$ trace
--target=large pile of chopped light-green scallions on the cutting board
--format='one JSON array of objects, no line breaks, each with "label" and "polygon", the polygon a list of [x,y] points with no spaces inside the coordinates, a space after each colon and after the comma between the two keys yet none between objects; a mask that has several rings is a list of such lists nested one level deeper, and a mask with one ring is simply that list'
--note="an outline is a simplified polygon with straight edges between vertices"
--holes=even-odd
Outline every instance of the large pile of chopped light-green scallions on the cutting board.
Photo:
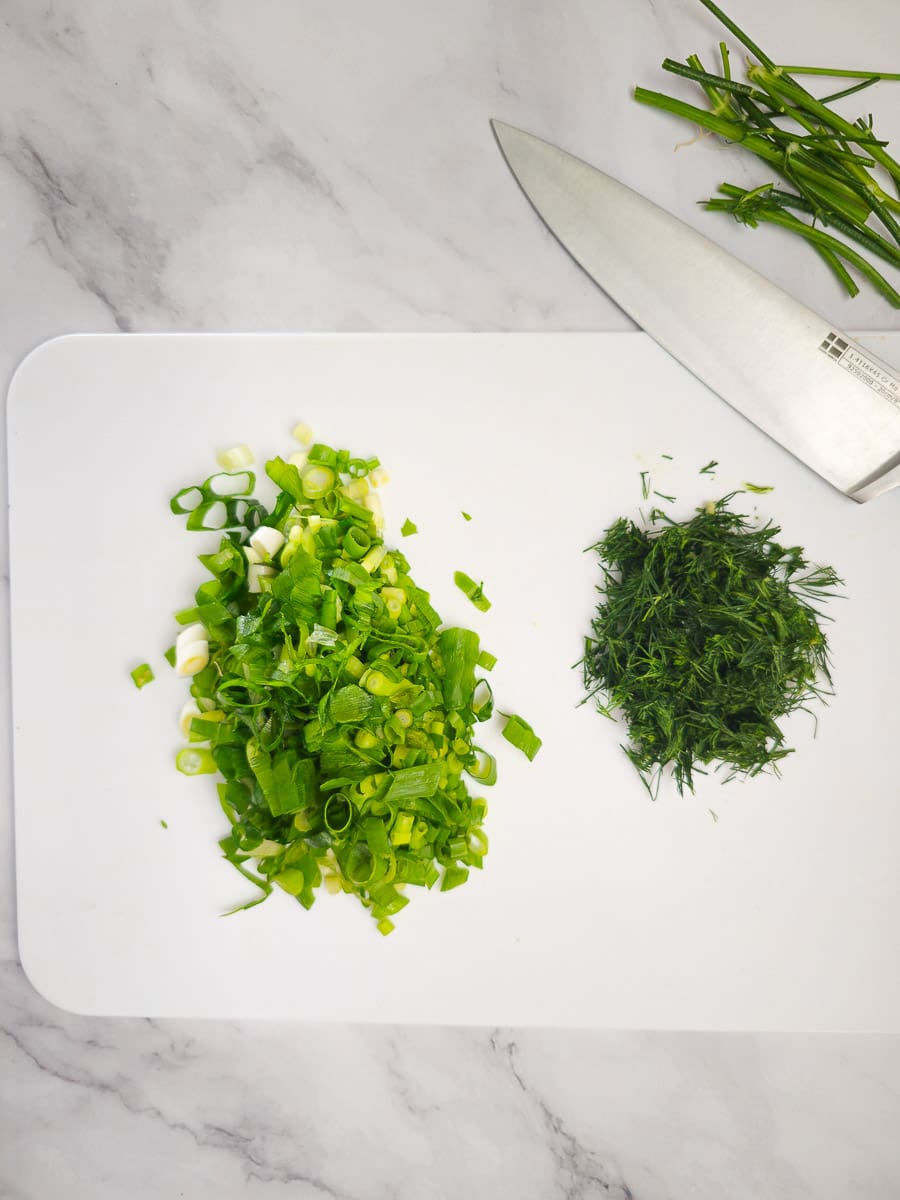
[{"label": "large pile of chopped light-green scallions on the cutting board", "polygon": [[[312,440],[305,425],[295,434]],[[469,781],[497,778],[476,732],[493,713],[476,670],[496,659],[442,624],[385,545],[377,458],[323,444],[274,458],[270,509],[238,449],[220,461],[239,469],[170,502],[188,529],[222,533],[199,556],[210,578],[176,614],[170,660],[191,679],[176,766],[220,776],[222,853],[260,893],[239,908],[274,887],[308,908],[324,884],[389,934],[408,886],[456,888],[487,853],[487,804]],[[506,736],[534,757],[534,734]]]}]

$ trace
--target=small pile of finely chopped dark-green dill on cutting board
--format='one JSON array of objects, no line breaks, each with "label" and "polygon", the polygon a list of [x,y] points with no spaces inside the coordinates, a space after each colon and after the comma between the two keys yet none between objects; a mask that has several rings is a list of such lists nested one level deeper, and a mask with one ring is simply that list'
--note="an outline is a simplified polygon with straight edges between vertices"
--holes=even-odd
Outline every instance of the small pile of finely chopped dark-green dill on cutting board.
[{"label": "small pile of finely chopped dark-green dill on cutting board", "polygon": [[830,695],[828,643],[816,607],[841,583],[800,547],[754,528],[732,493],[650,528],[620,517],[590,547],[604,572],[586,640],[588,700],[628,727],[625,754],[655,797],[671,768],[679,792],[715,764],[727,779],[778,763],[779,720]]}]

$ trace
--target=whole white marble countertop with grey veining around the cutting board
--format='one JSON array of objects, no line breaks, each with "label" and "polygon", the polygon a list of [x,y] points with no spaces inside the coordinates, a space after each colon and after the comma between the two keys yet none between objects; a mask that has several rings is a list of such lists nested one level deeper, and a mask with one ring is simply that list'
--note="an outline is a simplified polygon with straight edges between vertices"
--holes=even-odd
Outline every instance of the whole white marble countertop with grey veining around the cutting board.
[{"label": "whole white marble countertop with grey veining around the cutting board", "polygon": [[[900,42],[894,0],[728,7],[788,61],[889,70]],[[803,247],[695,208],[764,179],[708,140],[673,154],[689,131],[629,86],[680,90],[659,60],[712,59],[718,36],[694,0],[2,0],[0,378],[71,330],[628,328],[538,227],[490,115],[602,162],[839,325],[898,328]],[[874,107],[900,139],[900,91]],[[6,763],[8,707],[4,679]],[[896,1039],[62,1014],[17,965],[0,778],[10,1200],[900,1195]]]}]

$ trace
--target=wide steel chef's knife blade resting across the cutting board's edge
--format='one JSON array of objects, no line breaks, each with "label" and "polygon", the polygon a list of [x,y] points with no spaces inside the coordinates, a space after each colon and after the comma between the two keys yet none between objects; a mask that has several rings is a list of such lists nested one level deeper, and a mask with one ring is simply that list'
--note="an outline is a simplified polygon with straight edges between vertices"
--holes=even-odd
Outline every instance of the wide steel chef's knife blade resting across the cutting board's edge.
[{"label": "wide steel chef's knife blade resting across the cutting board's edge", "polygon": [[900,373],[643,196],[491,124],[538,216],[660,346],[846,496],[900,485]]}]

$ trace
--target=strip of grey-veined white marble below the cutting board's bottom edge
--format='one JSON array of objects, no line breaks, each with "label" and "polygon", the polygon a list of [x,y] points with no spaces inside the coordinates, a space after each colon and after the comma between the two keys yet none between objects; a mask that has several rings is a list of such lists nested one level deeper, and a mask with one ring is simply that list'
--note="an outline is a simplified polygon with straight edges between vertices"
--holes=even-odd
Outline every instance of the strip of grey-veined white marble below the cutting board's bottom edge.
[{"label": "strip of grey-veined white marble below the cutting board's bottom edge", "polygon": [[89,1020],[0,983],[11,1198],[896,1194],[878,1039]]}]

